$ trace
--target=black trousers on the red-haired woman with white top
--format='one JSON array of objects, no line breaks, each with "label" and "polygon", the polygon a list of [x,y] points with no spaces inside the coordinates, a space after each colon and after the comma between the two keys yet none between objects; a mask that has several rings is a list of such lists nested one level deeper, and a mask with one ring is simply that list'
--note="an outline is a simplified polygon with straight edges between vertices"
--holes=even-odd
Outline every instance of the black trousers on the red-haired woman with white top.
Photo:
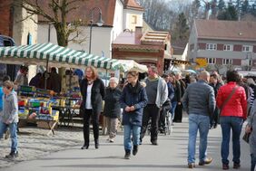
[{"label": "black trousers on the red-haired woman with white top", "polygon": [[94,141],[99,140],[99,118],[100,114],[94,113],[93,109],[84,110],[84,145],[88,146],[90,142],[90,118],[93,120]]}]

